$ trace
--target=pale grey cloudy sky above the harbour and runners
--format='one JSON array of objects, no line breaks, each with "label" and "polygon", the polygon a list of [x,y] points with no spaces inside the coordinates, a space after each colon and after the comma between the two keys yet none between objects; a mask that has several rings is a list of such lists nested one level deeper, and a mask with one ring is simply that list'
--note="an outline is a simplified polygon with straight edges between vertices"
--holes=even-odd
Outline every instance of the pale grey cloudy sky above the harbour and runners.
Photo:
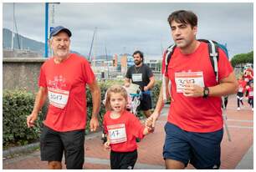
[{"label": "pale grey cloudy sky above the harbour and runners", "polygon": [[[197,38],[227,43],[231,57],[253,50],[253,3],[59,3],[49,5],[49,25],[73,33],[71,48],[89,54],[133,53],[160,58],[173,43],[167,23],[170,13],[192,10],[198,17]],[[44,3],[15,3],[18,33],[44,42]],[[52,24],[54,23],[54,24]],[[13,29],[13,3],[3,3],[3,28]]]}]

